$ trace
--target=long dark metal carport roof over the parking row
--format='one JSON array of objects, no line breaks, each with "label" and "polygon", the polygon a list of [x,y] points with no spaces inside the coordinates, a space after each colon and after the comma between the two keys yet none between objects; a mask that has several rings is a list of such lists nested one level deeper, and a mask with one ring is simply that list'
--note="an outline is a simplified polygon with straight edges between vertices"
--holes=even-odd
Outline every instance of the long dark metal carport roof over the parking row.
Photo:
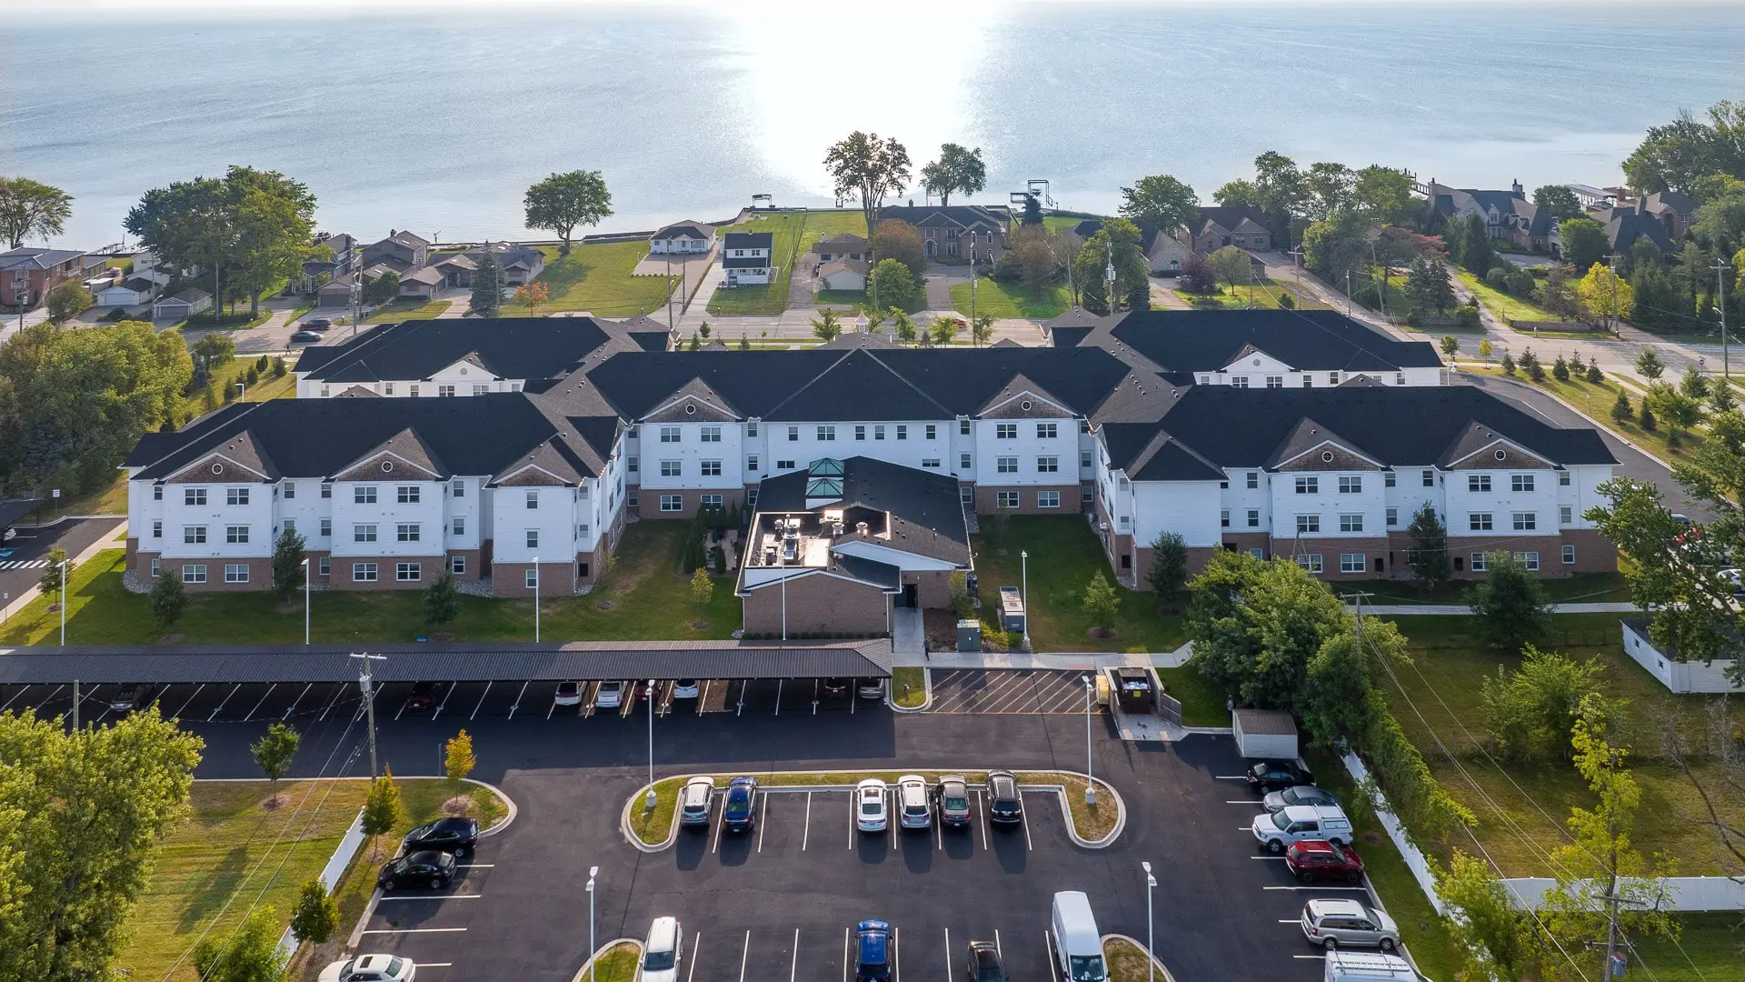
[{"label": "long dark metal carport roof over the parking row", "polygon": [[377,681],[611,678],[888,678],[888,640],[571,641],[550,645],[133,645],[0,650],[0,683],[352,681],[352,652]]}]

